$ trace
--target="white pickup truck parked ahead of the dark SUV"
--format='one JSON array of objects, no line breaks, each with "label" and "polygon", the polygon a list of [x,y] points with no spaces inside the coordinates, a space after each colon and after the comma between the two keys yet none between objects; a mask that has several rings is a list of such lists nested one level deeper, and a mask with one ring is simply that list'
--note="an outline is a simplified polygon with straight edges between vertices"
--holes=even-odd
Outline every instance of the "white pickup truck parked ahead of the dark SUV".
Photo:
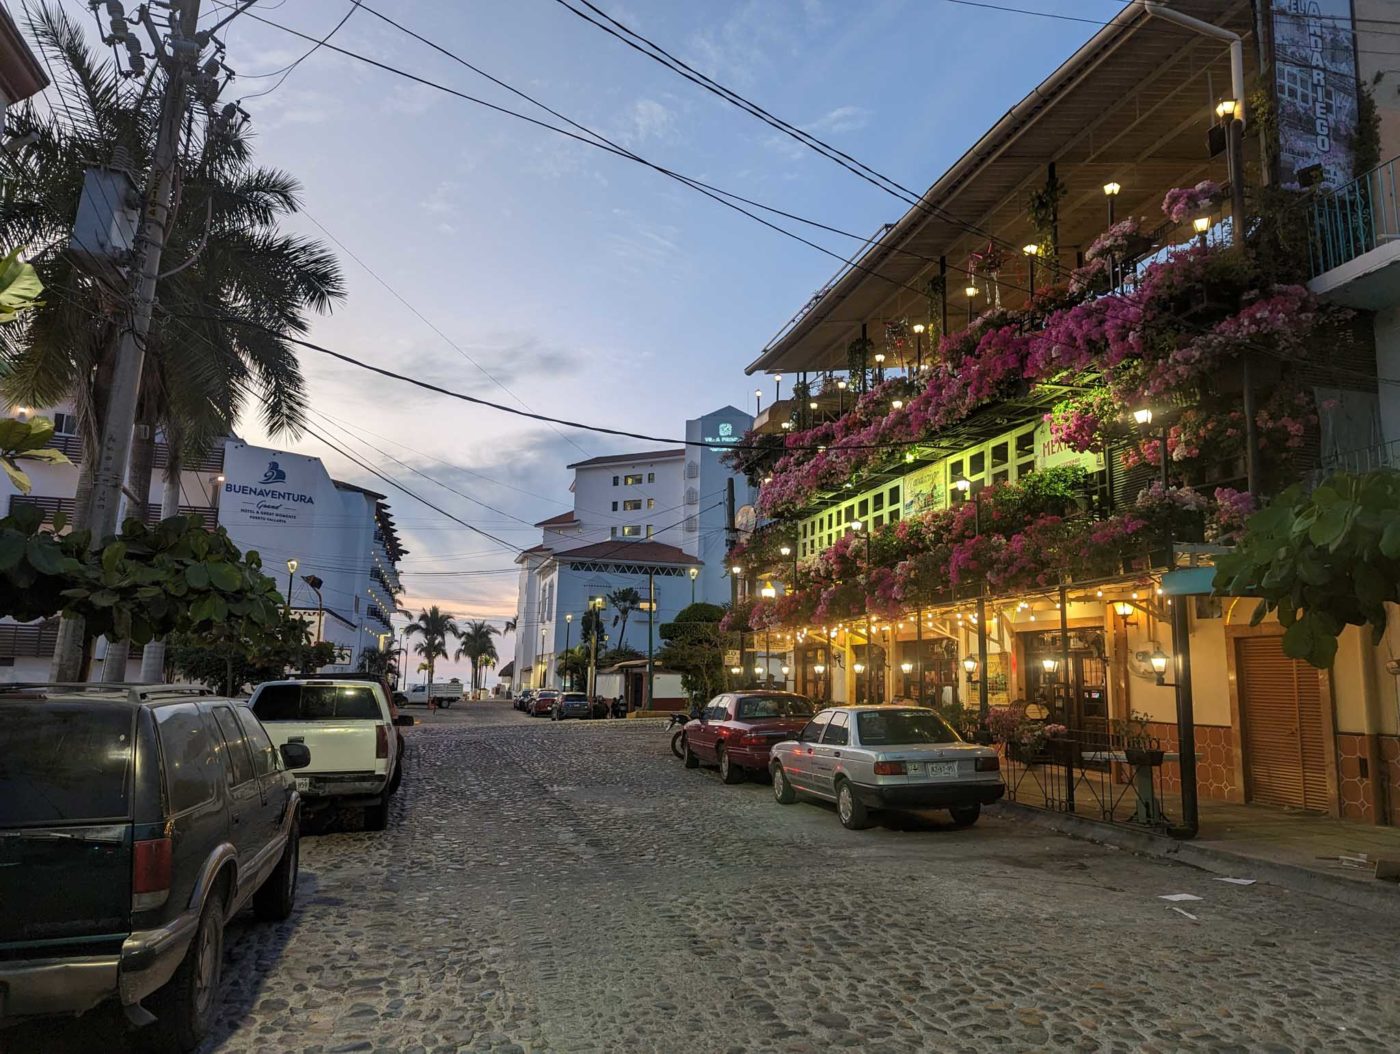
[{"label": "white pickup truck parked ahead of the dark SUV", "polygon": [[302,808],[360,806],[367,830],[389,823],[389,796],[403,778],[403,739],[384,686],[374,680],[267,680],[248,700],[276,746],[302,743],[312,763],[297,771]]}]

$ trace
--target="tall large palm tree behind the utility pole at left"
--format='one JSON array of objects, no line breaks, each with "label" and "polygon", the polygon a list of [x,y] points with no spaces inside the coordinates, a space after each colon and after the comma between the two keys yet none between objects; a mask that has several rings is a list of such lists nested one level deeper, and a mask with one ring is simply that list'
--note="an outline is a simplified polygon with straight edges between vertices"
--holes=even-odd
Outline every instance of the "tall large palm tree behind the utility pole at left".
[{"label": "tall large palm tree behind the utility pole at left", "polygon": [[[48,295],[25,325],[0,335],[0,393],[38,406],[73,400],[85,448],[73,517],[81,526],[126,298],[113,286],[123,279],[84,270],[66,249],[87,168],[147,171],[162,92],[125,80],[57,4],[41,3],[29,29],[59,76],[49,105],[7,113],[11,132],[28,143],[0,151],[0,242],[28,248]],[[144,428],[132,452],[139,505],[148,504],[157,428],[169,448],[167,473],[178,480],[179,463],[231,433],[249,403],[273,434],[300,427],[305,384],[284,336],[305,332],[308,309],[329,311],[344,295],[325,248],[277,230],[279,217],[298,207],[297,181],[255,167],[246,133],[216,126],[199,104],[188,105],[160,309],[144,343],[137,410]],[[78,676],[83,640],[74,620],[64,621],[55,673],[67,680]]]}]

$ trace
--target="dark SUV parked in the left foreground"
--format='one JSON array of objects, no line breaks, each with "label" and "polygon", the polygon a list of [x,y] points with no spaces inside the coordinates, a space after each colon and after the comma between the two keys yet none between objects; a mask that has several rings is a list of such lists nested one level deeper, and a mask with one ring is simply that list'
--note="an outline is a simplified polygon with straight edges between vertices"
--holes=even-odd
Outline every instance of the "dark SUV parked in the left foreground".
[{"label": "dark SUV parked in the left foreground", "polygon": [[291,914],[311,752],[204,689],[55,684],[0,690],[0,1019],[115,998],[195,1050],[224,922]]}]

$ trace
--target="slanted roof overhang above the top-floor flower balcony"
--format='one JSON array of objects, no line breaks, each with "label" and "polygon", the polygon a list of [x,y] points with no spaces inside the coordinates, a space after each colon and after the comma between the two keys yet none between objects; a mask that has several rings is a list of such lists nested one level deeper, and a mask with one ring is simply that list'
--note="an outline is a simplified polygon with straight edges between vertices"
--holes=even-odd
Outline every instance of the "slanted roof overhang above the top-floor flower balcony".
[{"label": "slanted roof overhang above the top-floor flower balcony", "polygon": [[[1177,0],[1172,8],[1246,41],[1254,35],[1250,0]],[[1254,49],[1245,53],[1253,66]],[[983,134],[920,204],[855,258],[857,266],[833,277],[745,372],[844,370],[862,323],[927,312],[921,290],[941,258],[949,265],[949,301],[965,309],[959,269],[993,237],[1009,245],[1026,239],[1026,199],[1051,162],[1068,188],[1060,204],[1061,263],[1072,266],[1074,252],[1103,231],[1107,182],[1123,188],[1119,217],[1152,223],[1165,190],[1224,176],[1224,157],[1210,157],[1207,134],[1210,94],[1228,94],[1229,85],[1224,42],[1128,4]],[[1022,270],[1012,281],[1025,286],[1026,279]]]}]

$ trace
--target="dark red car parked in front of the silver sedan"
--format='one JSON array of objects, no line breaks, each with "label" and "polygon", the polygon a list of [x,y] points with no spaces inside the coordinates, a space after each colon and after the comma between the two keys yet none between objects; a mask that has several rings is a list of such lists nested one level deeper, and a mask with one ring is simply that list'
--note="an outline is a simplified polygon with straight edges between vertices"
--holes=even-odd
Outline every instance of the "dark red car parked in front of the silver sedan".
[{"label": "dark red car parked in front of the silver sedan", "polygon": [[766,773],[773,745],[801,732],[815,712],[816,704],[794,691],[753,689],[715,696],[700,719],[686,725],[686,768],[717,764],[727,784]]}]

